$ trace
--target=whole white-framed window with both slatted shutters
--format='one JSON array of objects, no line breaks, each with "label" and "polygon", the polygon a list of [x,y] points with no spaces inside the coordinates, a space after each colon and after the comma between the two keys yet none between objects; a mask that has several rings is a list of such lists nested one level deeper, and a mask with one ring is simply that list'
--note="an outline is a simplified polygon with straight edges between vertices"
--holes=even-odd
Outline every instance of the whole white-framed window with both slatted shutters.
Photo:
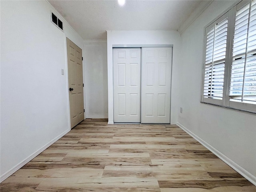
[{"label": "whole white-framed window with both slatted shutters", "polygon": [[256,112],[256,0],[208,25],[204,51],[201,102]]}]

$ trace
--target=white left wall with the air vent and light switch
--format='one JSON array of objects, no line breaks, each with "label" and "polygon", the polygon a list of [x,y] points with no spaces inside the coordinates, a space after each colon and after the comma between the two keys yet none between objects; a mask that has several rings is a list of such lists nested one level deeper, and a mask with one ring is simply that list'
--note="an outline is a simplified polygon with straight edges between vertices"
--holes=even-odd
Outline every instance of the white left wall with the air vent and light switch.
[{"label": "white left wall with the air vent and light switch", "polygon": [[0,3],[2,181],[70,130],[66,36],[83,42],[46,1]]}]

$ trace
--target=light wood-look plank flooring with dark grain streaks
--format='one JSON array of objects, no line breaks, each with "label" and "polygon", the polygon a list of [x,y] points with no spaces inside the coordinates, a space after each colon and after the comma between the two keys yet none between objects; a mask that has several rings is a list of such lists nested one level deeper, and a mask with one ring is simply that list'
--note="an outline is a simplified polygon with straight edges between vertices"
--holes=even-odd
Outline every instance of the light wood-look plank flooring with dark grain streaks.
[{"label": "light wood-look plank flooring with dark grain streaks", "polygon": [[256,192],[256,186],[178,126],[86,119],[0,191]]}]

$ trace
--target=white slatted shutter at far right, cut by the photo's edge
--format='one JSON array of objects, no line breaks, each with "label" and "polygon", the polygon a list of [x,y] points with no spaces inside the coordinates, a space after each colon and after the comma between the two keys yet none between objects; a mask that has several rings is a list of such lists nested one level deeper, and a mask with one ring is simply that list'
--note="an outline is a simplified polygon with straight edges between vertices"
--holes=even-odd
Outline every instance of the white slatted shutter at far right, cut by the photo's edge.
[{"label": "white slatted shutter at far right, cut by the photo's edge", "polygon": [[256,101],[256,1],[236,11],[230,100]]}]

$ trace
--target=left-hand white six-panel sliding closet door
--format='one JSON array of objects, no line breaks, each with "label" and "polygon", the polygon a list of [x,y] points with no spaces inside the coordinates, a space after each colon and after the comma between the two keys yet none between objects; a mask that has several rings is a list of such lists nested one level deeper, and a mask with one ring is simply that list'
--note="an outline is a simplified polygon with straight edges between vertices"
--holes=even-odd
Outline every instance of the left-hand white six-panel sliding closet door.
[{"label": "left-hand white six-panel sliding closet door", "polygon": [[140,122],[141,48],[113,48],[114,122]]}]

